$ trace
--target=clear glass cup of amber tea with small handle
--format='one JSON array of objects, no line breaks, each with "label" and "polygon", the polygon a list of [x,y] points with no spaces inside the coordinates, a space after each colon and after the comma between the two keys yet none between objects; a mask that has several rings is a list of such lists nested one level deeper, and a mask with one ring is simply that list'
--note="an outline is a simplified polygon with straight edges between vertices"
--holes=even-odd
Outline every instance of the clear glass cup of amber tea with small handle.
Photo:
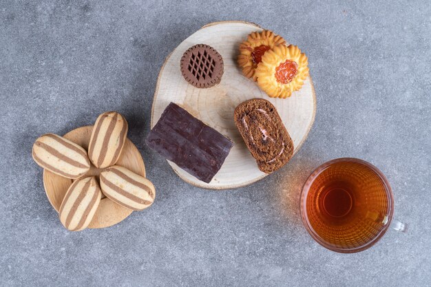
[{"label": "clear glass cup of amber tea with small handle", "polygon": [[364,251],[391,226],[394,198],[388,180],[372,164],[338,158],[317,167],[302,188],[301,215],[308,233],[319,244],[340,253]]}]

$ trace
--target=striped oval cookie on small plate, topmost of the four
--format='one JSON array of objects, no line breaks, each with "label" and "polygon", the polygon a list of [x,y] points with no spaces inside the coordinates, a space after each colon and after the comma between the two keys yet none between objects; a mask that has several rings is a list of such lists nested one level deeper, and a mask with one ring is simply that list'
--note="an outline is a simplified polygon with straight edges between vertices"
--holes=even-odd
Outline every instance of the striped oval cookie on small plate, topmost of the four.
[{"label": "striped oval cookie on small plate, topmost of the four", "polygon": [[98,116],[88,145],[88,156],[99,169],[115,164],[123,151],[127,121],[116,111]]}]

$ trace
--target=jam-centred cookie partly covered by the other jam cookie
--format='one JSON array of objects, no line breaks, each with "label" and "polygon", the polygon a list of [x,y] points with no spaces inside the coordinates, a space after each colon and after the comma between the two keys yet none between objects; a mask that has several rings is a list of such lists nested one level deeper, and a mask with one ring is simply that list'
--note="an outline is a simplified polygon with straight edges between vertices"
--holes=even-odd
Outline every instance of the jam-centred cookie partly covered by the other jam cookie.
[{"label": "jam-centred cookie partly covered by the other jam cookie", "polygon": [[249,34],[246,41],[241,43],[238,56],[238,65],[242,68],[242,74],[256,81],[255,70],[262,62],[262,56],[278,45],[286,45],[286,41],[272,31],[263,30]]}]

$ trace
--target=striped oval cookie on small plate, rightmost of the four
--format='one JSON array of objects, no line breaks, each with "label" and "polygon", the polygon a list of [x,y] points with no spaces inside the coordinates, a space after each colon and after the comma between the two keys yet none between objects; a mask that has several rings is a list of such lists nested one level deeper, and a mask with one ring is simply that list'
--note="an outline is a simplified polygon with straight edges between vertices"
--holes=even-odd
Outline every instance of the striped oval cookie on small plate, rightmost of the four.
[{"label": "striped oval cookie on small plate, rightmost of the four", "polygon": [[125,167],[114,165],[101,172],[101,189],[114,202],[140,211],[154,202],[154,185]]}]

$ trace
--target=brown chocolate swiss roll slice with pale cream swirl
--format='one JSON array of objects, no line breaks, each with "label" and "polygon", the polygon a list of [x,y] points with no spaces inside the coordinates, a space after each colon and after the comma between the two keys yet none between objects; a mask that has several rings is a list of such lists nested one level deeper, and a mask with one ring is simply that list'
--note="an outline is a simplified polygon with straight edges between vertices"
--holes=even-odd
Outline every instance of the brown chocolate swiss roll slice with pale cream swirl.
[{"label": "brown chocolate swiss roll slice with pale cream swirl", "polygon": [[271,173],[291,159],[293,141],[277,110],[268,100],[246,100],[236,107],[234,118],[261,171]]}]

